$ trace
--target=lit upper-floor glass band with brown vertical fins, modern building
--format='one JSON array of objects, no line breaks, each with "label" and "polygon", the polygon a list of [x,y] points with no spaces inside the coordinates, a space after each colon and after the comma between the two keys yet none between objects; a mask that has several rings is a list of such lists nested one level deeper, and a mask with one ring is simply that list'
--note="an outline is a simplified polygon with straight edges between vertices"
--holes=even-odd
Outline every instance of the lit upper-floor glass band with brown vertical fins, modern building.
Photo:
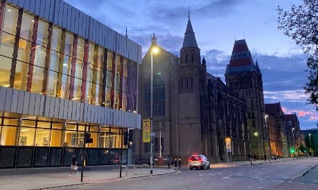
[{"label": "lit upper-floor glass band with brown vertical fins, modern building", "polygon": [[136,111],[136,63],[10,5],[3,11],[0,86]]}]

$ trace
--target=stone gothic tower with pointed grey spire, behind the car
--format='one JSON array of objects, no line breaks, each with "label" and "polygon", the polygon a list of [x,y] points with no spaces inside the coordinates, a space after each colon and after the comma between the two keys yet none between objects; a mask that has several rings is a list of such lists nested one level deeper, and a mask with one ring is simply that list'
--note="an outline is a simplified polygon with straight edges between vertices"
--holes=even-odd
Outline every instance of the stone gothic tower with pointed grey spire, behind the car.
[{"label": "stone gothic tower with pointed grey spire, behind the car", "polygon": [[[209,155],[209,128],[207,111],[202,105],[206,101],[206,66],[201,63],[200,48],[197,46],[190,15],[180,50],[177,65],[177,108],[175,109],[175,153]],[[200,103],[199,103],[200,102]],[[173,150],[174,152],[174,150]]]}]

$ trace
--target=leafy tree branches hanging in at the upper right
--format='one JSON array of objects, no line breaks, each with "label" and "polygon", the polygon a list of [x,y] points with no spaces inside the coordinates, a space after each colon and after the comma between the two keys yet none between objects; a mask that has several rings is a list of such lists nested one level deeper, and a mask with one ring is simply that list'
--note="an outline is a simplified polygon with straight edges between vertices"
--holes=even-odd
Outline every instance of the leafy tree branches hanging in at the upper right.
[{"label": "leafy tree branches hanging in at the upper right", "polygon": [[279,30],[308,55],[308,82],[303,88],[307,102],[315,105],[318,111],[318,0],[303,0],[303,5],[293,5],[289,11],[279,6],[277,11]]}]

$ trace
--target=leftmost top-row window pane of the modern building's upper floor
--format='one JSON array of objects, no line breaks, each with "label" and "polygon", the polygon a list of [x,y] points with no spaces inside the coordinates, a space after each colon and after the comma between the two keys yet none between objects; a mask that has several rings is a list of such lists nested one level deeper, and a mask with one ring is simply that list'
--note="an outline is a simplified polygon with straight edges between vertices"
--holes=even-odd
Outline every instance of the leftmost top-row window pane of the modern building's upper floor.
[{"label": "leftmost top-row window pane of the modern building's upper floor", "polygon": [[17,30],[18,10],[12,6],[6,5],[6,14],[4,16],[3,31],[15,35]]}]

